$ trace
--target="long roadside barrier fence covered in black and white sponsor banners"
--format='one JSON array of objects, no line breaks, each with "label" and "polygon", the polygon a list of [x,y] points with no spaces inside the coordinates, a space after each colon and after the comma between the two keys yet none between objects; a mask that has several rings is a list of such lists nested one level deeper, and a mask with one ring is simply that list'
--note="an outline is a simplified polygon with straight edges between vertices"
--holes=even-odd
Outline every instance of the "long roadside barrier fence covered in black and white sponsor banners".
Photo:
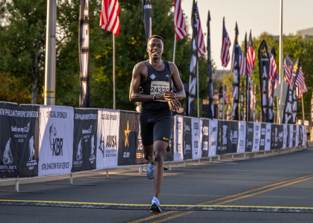
[{"label": "long roadside barrier fence covered in black and white sponsor banners", "polygon": [[[0,178],[147,163],[139,113],[0,103]],[[165,161],[306,145],[305,126],[173,116]]]}]

